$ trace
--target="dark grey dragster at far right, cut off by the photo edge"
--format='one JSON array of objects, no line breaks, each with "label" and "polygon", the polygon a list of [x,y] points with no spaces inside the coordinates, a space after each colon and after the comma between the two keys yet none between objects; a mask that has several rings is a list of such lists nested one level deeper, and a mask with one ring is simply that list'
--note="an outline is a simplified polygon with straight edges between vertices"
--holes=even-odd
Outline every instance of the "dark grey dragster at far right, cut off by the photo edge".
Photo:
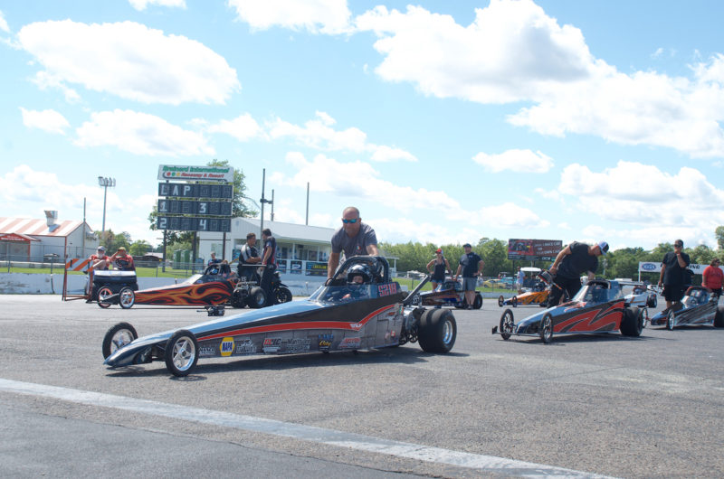
[{"label": "dark grey dragster at far right, cut off by the photo edge", "polygon": [[719,306],[719,296],[711,294],[702,286],[691,286],[681,298],[681,303],[664,309],[651,318],[653,326],[666,326],[672,330],[677,326],[712,325],[724,328],[724,306]]}]

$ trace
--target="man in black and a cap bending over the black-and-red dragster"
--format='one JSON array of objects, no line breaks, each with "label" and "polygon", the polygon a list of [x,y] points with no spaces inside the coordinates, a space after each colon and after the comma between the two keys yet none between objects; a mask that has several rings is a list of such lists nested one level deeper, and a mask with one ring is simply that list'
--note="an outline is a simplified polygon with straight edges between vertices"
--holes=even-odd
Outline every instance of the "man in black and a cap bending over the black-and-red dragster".
[{"label": "man in black and a cap bending over the black-and-red dragster", "polygon": [[588,279],[595,279],[595,270],[598,269],[598,257],[608,252],[608,243],[600,241],[593,246],[573,241],[558,253],[551,275],[555,275],[553,285],[550,287],[548,306],[560,303],[563,293],[568,297],[576,296],[581,288],[581,275],[588,273]]}]

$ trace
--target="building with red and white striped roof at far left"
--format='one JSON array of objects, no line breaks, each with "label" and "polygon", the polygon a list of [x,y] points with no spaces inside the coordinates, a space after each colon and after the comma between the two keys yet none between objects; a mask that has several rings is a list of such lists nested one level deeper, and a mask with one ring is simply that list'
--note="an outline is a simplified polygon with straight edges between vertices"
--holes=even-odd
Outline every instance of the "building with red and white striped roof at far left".
[{"label": "building with red and white striped roof at far left", "polygon": [[[54,213],[54,211],[49,211]],[[0,217],[0,258],[11,261],[43,261],[46,255],[88,258],[99,239],[85,221]],[[47,259],[47,258],[46,258]]]}]

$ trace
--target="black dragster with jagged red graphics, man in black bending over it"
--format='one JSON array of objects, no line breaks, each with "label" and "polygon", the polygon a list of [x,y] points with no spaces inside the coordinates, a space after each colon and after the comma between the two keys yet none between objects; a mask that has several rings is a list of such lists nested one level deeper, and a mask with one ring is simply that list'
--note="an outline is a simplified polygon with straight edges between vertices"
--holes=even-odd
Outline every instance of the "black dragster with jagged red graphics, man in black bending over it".
[{"label": "black dragster with jagged red graphics, man in black bending over it", "polygon": [[618,282],[593,279],[571,301],[549,307],[518,324],[513,311],[506,309],[492,333],[504,340],[512,334],[539,336],[543,343],[550,343],[553,334],[564,333],[621,331],[625,336],[640,336],[644,322],[643,311],[626,304]]}]

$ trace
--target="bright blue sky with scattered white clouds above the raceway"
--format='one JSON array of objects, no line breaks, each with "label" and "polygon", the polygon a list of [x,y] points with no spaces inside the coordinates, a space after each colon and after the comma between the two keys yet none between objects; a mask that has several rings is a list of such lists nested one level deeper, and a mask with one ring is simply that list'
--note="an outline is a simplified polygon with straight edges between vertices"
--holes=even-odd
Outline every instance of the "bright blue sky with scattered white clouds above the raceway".
[{"label": "bright blue sky with scattered white clouds above the raceway", "polygon": [[0,0],[0,215],[85,197],[100,230],[111,176],[107,225],[156,244],[158,164],[218,158],[382,241],[715,247],[722,5]]}]

